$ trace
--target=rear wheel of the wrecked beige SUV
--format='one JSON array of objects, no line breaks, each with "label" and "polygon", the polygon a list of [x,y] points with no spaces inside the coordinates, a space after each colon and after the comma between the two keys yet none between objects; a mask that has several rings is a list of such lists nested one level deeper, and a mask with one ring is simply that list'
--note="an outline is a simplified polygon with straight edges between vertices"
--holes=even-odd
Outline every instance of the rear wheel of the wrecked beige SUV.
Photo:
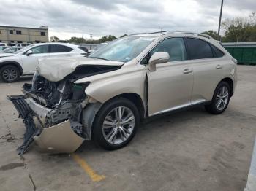
[{"label": "rear wheel of the wrecked beige SUV", "polygon": [[227,109],[230,102],[230,85],[227,82],[219,82],[217,85],[211,104],[206,105],[206,111],[211,114],[222,114]]}]

